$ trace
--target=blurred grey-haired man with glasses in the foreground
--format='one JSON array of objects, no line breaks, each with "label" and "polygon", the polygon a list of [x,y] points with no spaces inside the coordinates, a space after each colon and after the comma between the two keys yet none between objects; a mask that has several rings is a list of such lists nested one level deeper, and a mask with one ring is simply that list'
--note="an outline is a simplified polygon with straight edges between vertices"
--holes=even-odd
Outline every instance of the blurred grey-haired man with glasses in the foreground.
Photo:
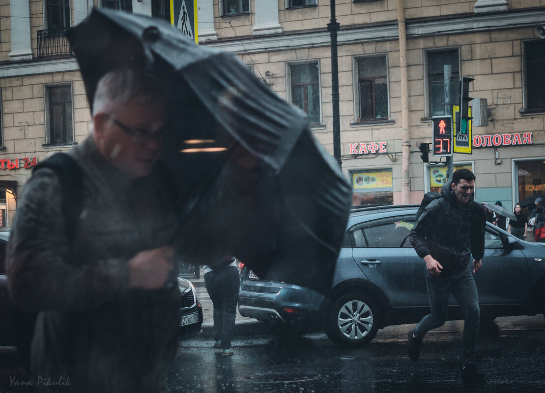
[{"label": "blurred grey-haired man with glasses in the foreground", "polygon": [[68,153],[83,174],[75,234],[54,170],[35,170],[25,187],[7,272],[14,304],[38,312],[38,391],[167,390],[180,307],[174,199],[153,169],[166,126],[162,85],[127,69],[100,79],[93,132]]}]

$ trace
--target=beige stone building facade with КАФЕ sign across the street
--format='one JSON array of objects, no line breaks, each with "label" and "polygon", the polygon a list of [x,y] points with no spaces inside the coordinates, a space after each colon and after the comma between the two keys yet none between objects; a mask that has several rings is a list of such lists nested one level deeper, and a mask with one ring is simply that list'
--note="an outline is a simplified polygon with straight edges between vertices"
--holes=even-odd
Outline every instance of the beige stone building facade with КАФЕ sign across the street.
[{"label": "beige stone building facade with \u041a\u0410\u0424\u0415 sign across the street", "polygon": [[[54,30],[45,33],[51,40],[95,6],[130,5],[132,12],[168,19],[166,3],[0,0],[3,226],[33,163],[71,148],[91,130],[77,64],[69,50],[54,54],[62,42],[47,44],[43,31]],[[341,160],[353,205],[419,203],[446,181],[445,157],[431,152],[430,161],[440,163],[426,164],[419,150],[432,143],[432,116],[451,108],[445,108],[445,65],[452,97],[459,77],[474,79],[473,149],[455,152],[453,162],[477,175],[477,200],[512,208],[545,194],[545,2],[335,4]],[[197,1],[197,8],[199,44],[238,54],[263,83],[305,110],[314,136],[333,153],[330,0],[213,0]]]}]

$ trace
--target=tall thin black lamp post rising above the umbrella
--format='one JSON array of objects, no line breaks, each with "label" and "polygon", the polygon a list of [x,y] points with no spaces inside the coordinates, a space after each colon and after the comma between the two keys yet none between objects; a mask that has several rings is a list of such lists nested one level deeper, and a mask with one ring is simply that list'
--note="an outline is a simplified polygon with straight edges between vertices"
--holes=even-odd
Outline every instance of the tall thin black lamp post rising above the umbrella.
[{"label": "tall thin black lamp post rising above the umbrella", "polygon": [[333,105],[333,156],[342,167],[341,123],[339,119],[339,75],[337,63],[337,30],[341,26],[335,17],[335,0],[330,0],[331,20],[328,23],[331,36],[331,103]]}]

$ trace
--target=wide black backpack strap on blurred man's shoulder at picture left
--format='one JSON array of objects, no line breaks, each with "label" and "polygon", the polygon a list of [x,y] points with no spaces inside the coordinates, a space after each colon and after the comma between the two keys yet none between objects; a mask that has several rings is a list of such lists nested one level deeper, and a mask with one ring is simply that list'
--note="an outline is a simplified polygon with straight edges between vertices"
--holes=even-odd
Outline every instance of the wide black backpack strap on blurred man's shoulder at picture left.
[{"label": "wide black backpack strap on blurred man's shoulder at picture left", "polygon": [[76,160],[66,153],[55,153],[33,169],[49,168],[57,175],[62,194],[62,214],[69,248],[76,236],[77,222],[83,208],[83,171]]}]

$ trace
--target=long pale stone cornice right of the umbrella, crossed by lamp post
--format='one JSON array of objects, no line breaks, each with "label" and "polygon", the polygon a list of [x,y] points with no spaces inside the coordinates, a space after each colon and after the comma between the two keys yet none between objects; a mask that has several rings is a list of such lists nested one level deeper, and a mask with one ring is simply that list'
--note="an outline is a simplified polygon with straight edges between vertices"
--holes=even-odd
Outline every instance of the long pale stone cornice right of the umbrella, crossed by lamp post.
[{"label": "long pale stone cornice right of the umbrella, crossed by lamp post", "polygon": [[[463,17],[432,20],[419,19],[406,21],[407,38],[421,38],[447,34],[467,34],[535,27],[543,24],[545,9],[514,11],[497,14],[467,14]],[[359,44],[361,42],[389,41],[398,39],[397,22],[379,26],[338,30],[338,45]],[[224,52],[258,53],[293,50],[308,47],[329,46],[331,38],[326,31],[282,34],[270,37],[230,40],[228,42],[206,42],[204,45]]]}]

